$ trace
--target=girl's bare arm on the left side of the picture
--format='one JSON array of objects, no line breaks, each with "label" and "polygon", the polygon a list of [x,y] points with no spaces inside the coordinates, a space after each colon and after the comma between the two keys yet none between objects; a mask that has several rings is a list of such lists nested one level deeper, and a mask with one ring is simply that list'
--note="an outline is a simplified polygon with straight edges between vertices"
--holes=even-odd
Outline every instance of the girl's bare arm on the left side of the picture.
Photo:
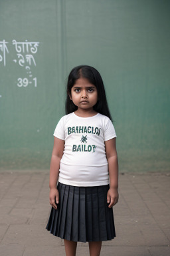
[{"label": "girl's bare arm on the left side of the picture", "polygon": [[62,139],[58,139],[54,137],[54,147],[52,150],[52,157],[50,161],[50,205],[57,208],[56,203],[59,202],[58,190],[56,189],[56,183],[58,181],[58,174],[60,169],[60,160],[64,151],[64,143],[65,141]]}]

